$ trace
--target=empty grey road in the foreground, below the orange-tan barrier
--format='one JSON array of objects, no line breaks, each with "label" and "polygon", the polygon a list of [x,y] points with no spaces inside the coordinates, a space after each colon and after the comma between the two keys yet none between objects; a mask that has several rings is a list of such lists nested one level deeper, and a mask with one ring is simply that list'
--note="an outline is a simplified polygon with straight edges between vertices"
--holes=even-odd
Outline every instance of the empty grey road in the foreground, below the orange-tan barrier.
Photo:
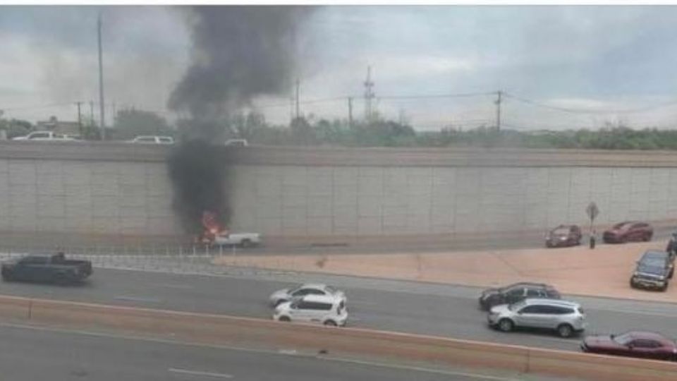
[{"label": "empty grey road in the foreground, below the orange-tan barrier", "polygon": [[316,357],[16,325],[0,325],[0,368],[8,381],[510,380],[468,370],[332,358],[331,353]]}]

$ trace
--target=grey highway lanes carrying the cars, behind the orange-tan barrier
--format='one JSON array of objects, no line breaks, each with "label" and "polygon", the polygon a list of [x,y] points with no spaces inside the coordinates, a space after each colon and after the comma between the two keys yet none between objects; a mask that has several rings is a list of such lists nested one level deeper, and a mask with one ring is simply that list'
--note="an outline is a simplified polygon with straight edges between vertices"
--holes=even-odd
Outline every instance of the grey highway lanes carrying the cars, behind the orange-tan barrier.
[{"label": "grey highway lanes carrying the cars, behind the orange-tan barrier", "polygon": [[[353,327],[578,350],[580,338],[560,339],[539,332],[506,334],[489,329],[486,313],[477,308],[480,289],[468,286],[324,274],[225,277],[97,269],[92,279],[81,286],[3,282],[0,294],[270,318],[272,311],[267,306],[267,298],[272,291],[293,282],[318,281],[346,291],[348,325]],[[675,304],[589,297],[571,299],[582,303],[589,334],[650,329],[677,337]]]}]

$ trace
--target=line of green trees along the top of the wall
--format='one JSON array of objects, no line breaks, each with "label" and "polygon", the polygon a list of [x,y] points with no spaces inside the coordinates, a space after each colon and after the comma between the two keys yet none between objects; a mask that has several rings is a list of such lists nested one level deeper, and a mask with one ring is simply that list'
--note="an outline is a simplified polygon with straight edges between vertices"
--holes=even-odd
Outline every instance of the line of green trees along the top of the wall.
[{"label": "line of green trees along the top of the wall", "polygon": [[[35,131],[36,126],[20,119],[0,116],[0,130],[8,138]],[[98,140],[100,128],[85,120],[85,139]],[[106,138],[128,140],[137,135],[170,135],[188,140],[202,131],[216,141],[242,138],[257,145],[307,145],[336,147],[523,147],[576,148],[598,150],[677,150],[677,130],[634,129],[623,123],[605,123],[599,129],[571,128],[564,131],[498,130],[494,126],[463,129],[446,126],[438,131],[416,131],[406,121],[375,116],[370,121],[324,119],[309,115],[293,119],[288,125],[269,123],[256,111],[238,114],[221,121],[178,119],[169,123],[152,111],[123,109],[106,128]]]}]

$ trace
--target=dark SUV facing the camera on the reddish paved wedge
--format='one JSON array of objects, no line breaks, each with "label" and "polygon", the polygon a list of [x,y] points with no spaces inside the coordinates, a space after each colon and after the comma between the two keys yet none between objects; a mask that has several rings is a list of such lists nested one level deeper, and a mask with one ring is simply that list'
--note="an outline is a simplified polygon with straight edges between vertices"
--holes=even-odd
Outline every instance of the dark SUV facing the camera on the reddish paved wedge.
[{"label": "dark SUV facing the camera on the reddish paved wedge", "polygon": [[637,267],[630,277],[630,287],[646,287],[665,291],[668,289],[669,279],[672,278],[674,256],[665,251],[649,250],[637,261]]}]

